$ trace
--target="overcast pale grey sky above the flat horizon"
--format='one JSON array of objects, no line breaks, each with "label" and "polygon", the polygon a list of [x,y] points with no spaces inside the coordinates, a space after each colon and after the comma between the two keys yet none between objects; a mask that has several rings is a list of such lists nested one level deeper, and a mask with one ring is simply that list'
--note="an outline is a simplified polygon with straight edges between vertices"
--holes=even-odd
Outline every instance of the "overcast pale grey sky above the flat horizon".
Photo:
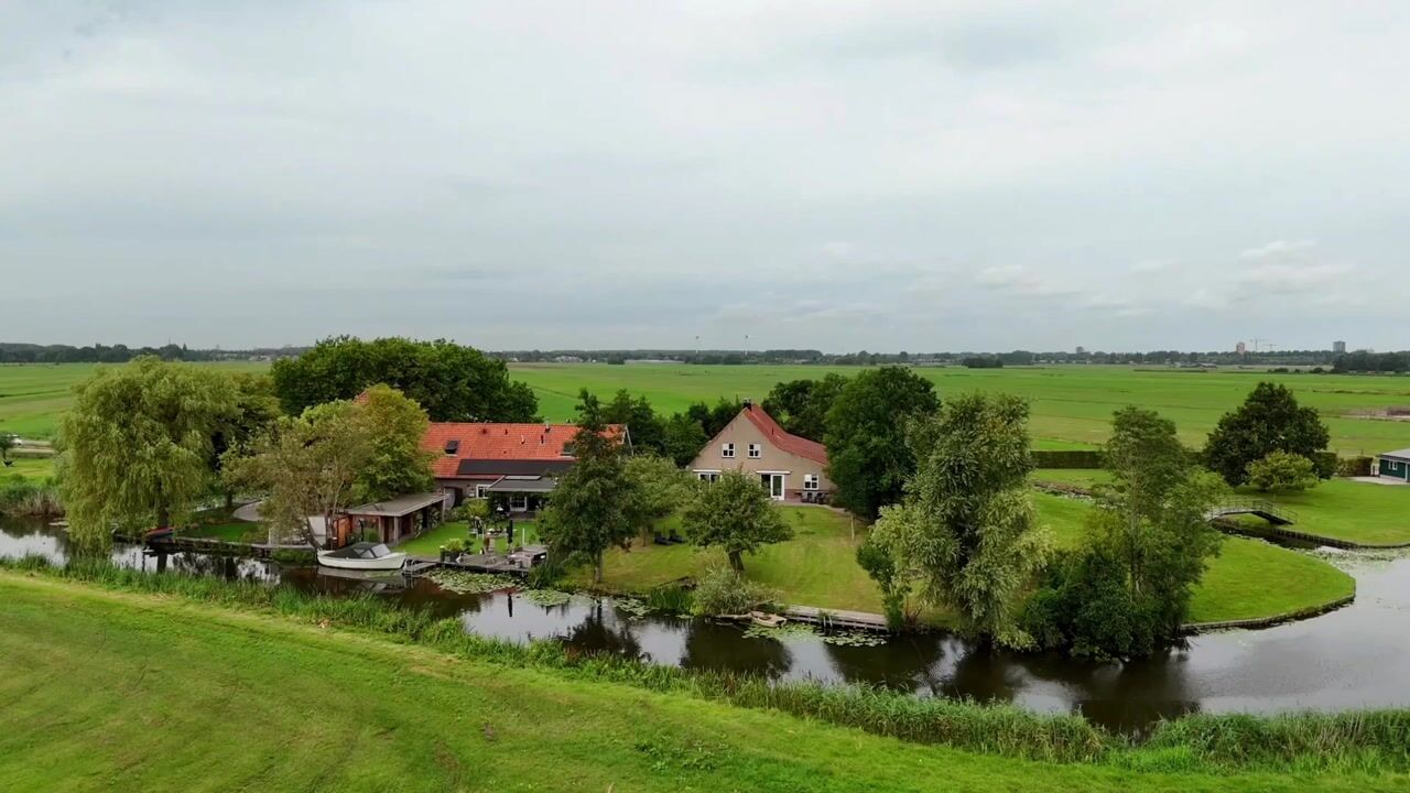
[{"label": "overcast pale grey sky above the flat horizon", "polygon": [[0,0],[0,340],[1410,349],[1410,4]]}]

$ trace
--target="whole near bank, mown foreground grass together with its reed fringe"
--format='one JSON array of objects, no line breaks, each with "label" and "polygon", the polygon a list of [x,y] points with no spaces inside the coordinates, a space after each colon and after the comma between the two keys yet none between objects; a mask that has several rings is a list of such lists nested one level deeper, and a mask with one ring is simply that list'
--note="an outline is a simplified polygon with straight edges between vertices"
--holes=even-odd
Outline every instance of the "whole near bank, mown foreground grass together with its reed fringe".
[{"label": "whole near bank, mown foreground grass together with its reed fringe", "polygon": [[[846,689],[829,698],[818,687],[783,687],[773,701],[736,707],[709,676],[485,642],[458,624],[441,628],[454,621],[393,619],[398,611],[376,601],[128,580],[124,591],[0,571],[0,715],[20,725],[0,735],[7,790],[106,789],[117,779],[147,790],[1215,792],[1410,782],[1410,717],[1400,711],[1197,717],[1132,748],[1072,717]],[[737,680],[733,690],[763,691]],[[815,718],[856,718],[909,739],[780,713],[808,713],[808,696],[821,707]],[[864,721],[869,708],[885,718]],[[984,751],[916,742],[926,739]],[[1056,762],[1010,756],[1043,752]],[[1272,773],[1293,768],[1301,770]]]}]

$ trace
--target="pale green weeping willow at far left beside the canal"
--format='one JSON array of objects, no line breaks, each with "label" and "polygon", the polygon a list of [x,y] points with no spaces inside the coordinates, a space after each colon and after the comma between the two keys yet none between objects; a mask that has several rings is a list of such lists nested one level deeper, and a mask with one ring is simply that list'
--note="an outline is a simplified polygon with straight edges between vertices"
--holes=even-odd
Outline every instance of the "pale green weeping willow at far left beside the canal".
[{"label": "pale green weeping willow at far left beside the canal", "polygon": [[58,470],[79,546],[106,547],[116,528],[171,526],[210,492],[213,437],[237,413],[226,374],[142,357],[75,391]]}]

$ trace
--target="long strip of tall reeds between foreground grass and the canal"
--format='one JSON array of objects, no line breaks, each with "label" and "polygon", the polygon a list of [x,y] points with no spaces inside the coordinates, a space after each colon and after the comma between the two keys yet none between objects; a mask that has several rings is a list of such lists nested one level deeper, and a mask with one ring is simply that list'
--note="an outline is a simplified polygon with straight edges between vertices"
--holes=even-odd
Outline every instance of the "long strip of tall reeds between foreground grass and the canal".
[{"label": "long strip of tall reeds between foreground grass and the canal", "polygon": [[1080,715],[1012,706],[914,697],[866,686],[771,683],[730,672],[685,670],[581,653],[557,642],[515,645],[467,634],[455,618],[400,608],[371,594],[329,597],[289,587],[180,573],[142,573],[107,560],[55,567],[42,557],[0,559],[0,569],[257,610],[298,622],[372,632],[460,658],[536,667],[577,680],[611,682],[749,708],[777,710],[904,741],[1046,762],[1103,762],[1136,769],[1410,770],[1410,711],[1194,715],[1159,725],[1141,745]]}]

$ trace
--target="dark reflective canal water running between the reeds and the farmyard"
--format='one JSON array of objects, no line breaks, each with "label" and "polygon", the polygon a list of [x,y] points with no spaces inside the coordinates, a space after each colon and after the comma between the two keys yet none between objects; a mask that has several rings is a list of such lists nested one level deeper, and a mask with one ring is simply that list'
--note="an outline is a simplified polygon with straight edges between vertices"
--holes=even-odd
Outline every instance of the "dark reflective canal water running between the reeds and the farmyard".
[{"label": "dark reflective canal water running between the reeds and the farmyard", "polygon": [[[0,556],[66,559],[65,535],[35,522],[0,521]],[[151,556],[113,550],[118,564],[283,583],[310,591],[374,591],[406,605],[458,615],[468,631],[510,641],[556,638],[584,650],[611,650],[653,663],[736,670],[774,680],[880,684],[916,696],[1014,703],[1048,713],[1081,713],[1121,732],[1189,713],[1273,713],[1410,706],[1410,557],[1347,553],[1356,577],[1345,608],[1262,631],[1189,639],[1155,658],[1093,663],[1056,653],[1021,655],[932,632],[881,646],[839,646],[814,638],[750,638],[737,625],[664,615],[633,617],[611,598],[575,597],[543,607],[513,593],[448,593],[424,579],[354,579],[316,567],[196,553]]]}]

